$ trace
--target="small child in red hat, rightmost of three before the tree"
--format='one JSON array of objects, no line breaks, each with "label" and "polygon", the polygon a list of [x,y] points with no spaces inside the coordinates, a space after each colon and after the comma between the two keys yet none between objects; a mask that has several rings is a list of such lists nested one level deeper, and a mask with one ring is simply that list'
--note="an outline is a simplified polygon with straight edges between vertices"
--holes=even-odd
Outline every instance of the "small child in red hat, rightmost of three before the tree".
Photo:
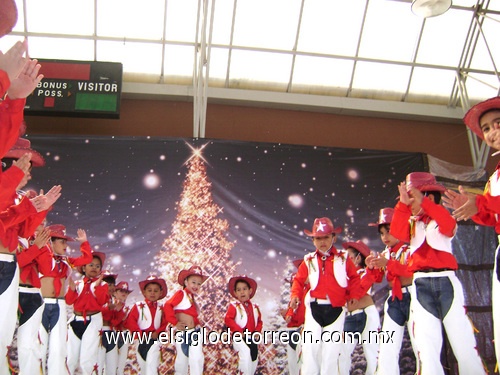
[{"label": "small child in red hat, rightmost of three before the tree", "polygon": [[[230,332],[261,332],[262,315],[259,306],[251,299],[257,291],[257,282],[247,276],[235,276],[229,279],[228,289],[231,296],[237,299],[231,302],[224,322]],[[233,340],[233,348],[238,353],[238,370],[243,375],[253,375],[257,369],[259,349],[257,344],[241,336],[241,340]]]}]

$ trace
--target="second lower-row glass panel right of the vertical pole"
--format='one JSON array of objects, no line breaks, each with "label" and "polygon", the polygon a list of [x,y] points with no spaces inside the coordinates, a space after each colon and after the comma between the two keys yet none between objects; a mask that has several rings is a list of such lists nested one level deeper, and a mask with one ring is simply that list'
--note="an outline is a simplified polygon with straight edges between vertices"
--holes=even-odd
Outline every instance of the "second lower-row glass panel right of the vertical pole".
[{"label": "second lower-row glass panel right of the vertical pole", "polygon": [[233,50],[229,78],[288,85],[291,65],[291,55]]}]

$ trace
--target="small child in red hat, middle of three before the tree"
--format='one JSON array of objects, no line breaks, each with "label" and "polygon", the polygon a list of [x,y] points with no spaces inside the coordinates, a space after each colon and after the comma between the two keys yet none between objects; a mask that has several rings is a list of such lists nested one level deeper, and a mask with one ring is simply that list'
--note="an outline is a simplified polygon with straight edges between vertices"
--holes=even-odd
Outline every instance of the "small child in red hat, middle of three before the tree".
[{"label": "small child in red hat, middle of three before the tree", "polygon": [[208,279],[203,275],[199,266],[192,266],[179,272],[177,281],[183,287],[178,290],[165,303],[164,311],[167,321],[177,330],[184,331],[182,343],[176,342],[175,373],[191,375],[203,374],[203,346],[201,340],[191,339],[191,335],[199,337],[198,307],[194,295],[198,293],[201,285]]}]

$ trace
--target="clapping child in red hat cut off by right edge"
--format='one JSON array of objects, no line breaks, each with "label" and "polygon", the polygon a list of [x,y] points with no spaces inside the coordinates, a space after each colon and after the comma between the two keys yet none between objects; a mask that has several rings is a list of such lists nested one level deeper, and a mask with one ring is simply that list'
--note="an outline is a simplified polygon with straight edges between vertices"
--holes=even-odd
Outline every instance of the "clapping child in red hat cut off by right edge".
[{"label": "clapping child in red hat cut off by right edge", "polygon": [[[500,96],[490,98],[473,106],[463,119],[479,138],[489,147],[500,151]],[[453,209],[457,220],[472,219],[475,223],[495,228],[500,234],[500,163],[490,176],[483,195],[468,193],[462,186],[459,191],[447,190],[443,197],[445,207]],[[500,246],[495,251],[493,266],[491,306],[493,309],[493,341],[495,355],[500,362]]]}]

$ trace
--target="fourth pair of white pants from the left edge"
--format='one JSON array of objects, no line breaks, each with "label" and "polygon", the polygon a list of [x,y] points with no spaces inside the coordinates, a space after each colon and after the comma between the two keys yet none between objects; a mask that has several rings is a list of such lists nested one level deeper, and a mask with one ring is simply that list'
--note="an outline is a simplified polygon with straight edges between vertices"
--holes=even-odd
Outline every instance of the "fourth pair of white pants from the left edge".
[{"label": "fourth pair of white pants from the left edge", "polygon": [[[71,375],[75,374],[80,365],[83,375],[99,374],[99,348],[101,345],[102,314],[87,316],[88,323],[81,339],[78,338],[73,327],[68,327],[68,369]],[[82,316],[74,316],[72,321],[83,321]],[[52,374],[49,374],[52,375]]]}]

